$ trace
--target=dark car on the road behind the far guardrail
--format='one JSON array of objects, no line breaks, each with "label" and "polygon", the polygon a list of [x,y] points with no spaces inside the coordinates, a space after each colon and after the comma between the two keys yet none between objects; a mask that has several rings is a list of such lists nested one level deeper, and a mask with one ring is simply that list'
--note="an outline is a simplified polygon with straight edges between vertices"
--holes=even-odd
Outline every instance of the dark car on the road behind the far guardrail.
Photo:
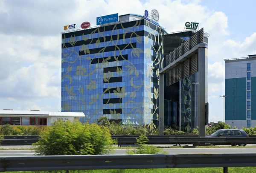
[{"label": "dark car on the road behind the far guardrail", "polygon": [[[206,137],[248,137],[248,134],[244,130],[239,129],[220,129]],[[245,146],[246,144],[238,144],[239,146]],[[235,146],[232,144],[232,146]]]}]

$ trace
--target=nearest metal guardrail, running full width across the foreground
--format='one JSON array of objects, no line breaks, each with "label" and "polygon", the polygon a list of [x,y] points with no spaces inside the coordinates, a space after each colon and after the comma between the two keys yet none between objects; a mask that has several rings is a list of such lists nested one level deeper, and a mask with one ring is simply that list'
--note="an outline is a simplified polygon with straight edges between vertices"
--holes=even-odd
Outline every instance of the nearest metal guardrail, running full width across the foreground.
[{"label": "nearest metal guardrail, running full width across the foreground", "polygon": [[191,167],[255,167],[256,153],[0,157],[0,172]]}]

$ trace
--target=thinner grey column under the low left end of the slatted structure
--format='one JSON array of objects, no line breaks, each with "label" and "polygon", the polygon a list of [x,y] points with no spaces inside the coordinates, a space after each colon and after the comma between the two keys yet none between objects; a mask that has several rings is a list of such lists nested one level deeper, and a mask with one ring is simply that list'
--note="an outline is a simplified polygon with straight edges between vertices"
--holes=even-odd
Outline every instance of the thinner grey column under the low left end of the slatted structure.
[{"label": "thinner grey column under the low left end of the slatted structure", "polygon": [[159,74],[159,135],[163,135],[164,74]]}]

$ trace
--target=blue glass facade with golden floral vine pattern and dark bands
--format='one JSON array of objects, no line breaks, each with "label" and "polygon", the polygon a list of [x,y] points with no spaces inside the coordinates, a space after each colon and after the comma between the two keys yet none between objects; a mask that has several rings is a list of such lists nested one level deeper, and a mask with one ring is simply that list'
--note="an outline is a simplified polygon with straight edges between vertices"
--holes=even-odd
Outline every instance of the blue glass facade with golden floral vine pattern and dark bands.
[{"label": "blue glass facade with golden floral vine pattern and dark bands", "polygon": [[123,124],[157,120],[163,29],[147,20],[62,34],[61,111]]}]

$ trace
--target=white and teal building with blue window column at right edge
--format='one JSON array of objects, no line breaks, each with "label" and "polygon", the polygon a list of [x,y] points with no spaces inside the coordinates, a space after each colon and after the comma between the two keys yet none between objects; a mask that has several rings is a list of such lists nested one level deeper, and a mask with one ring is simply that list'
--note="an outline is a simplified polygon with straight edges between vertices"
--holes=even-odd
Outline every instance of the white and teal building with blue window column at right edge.
[{"label": "white and teal building with blue window column at right edge", "polygon": [[256,55],[224,61],[226,68],[225,122],[239,129],[255,127]]}]

